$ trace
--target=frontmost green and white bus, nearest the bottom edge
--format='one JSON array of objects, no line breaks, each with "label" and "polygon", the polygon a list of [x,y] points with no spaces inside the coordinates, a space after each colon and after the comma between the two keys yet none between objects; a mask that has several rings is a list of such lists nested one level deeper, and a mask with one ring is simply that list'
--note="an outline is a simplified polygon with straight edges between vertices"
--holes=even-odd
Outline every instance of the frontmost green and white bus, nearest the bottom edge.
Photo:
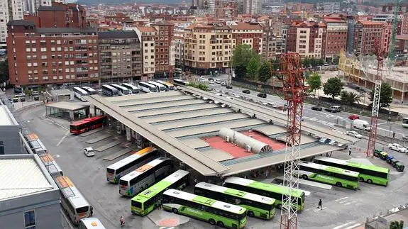
[{"label": "frontmost green and white bus, nearest the bottom edge", "polygon": [[197,218],[221,228],[243,228],[246,225],[246,208],[176,189],[163,193],[162,206],[167,211]]}]

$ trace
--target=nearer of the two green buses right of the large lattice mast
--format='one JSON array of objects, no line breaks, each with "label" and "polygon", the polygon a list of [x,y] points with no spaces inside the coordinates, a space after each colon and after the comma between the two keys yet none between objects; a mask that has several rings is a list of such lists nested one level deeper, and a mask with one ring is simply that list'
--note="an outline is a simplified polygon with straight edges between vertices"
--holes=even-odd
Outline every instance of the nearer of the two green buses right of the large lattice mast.
[{"label": "nearer of the two green buses right of the large lattice mast", "polygon": [[303,179],[333,184],[338,187],[358,188],[359,173],[337,167],[313,162],[299,162],[299,175]]}]

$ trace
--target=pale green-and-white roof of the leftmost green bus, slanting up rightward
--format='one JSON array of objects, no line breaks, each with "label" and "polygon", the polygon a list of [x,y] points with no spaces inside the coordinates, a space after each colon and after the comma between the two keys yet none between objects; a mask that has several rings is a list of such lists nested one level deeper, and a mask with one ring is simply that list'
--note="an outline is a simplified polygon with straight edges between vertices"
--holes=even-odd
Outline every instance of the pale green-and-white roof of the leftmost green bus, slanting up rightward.
[{"label": "pale green-and-white roof of the leftmost green bus, slanting up rightward", "polygon": [[145,191],[140,192],[137,196],[133,197],[132,201],[138,201],[143,203],[150,199],[152,196],[160,193],[161,191],[167,189],[168,186],[174,184],[176,181],[180,180],[182,177],[185,177],[189,174],[189,172],[184,171],[182,169],[177,170],[170,174],[170,176],[162,179],[157,184],[151,186],[150,188],[146,189]]}]

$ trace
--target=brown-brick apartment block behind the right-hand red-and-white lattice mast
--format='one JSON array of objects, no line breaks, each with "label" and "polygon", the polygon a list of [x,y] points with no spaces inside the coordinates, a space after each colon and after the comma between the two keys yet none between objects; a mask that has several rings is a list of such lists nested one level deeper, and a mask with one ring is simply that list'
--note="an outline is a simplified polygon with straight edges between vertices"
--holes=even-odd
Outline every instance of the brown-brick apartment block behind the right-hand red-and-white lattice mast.
[{"label": "brown-brick apartment block behind the right-hand red-and-white lattice mast", "polygon": [[375,52],[374,42],[379,39],[385,52],[390,50],[392,25],[379,21],[359,20],[354,27],[353,52],[367,55]]}]

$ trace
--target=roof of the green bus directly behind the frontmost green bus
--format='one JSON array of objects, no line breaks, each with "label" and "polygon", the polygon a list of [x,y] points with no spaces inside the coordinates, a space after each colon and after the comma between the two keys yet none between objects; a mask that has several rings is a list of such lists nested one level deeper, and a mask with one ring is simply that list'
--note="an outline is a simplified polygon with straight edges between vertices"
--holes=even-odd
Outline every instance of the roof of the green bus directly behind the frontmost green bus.
[{"label": "roof of the green bus directly behind the frontmost green bus", "polygon": [[198,184],[196,184],[196,187],[201,188],[201,189],[208,189],[211,191],[216,191],[219,193],[223,193],[223,194],[228,194],[231,196],[236,196],[236,197],[240,197],[242,199],[247,199],[249,201],[255,201],[258,203],[265,203],[265,204],[270,204],[272,205],[273,203],[275,203],[275,199],[266,197],[266,196],[260,196],[257,194],[251,194],[249,192],[246,191],[239,191],[236,189],[229,189],[227,187],[223,187],[223,186],[219,186],[219,185],[215,185],[215,184],[209,184],[206,182],[200,182]]}]

